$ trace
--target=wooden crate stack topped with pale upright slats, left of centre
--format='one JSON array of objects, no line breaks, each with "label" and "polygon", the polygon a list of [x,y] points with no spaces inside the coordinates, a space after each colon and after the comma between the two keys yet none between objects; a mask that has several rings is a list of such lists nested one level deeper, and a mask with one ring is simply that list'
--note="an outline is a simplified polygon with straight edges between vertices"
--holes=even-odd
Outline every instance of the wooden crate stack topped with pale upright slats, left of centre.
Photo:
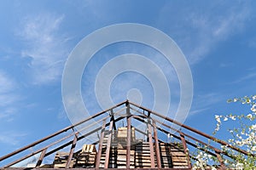
[{"label": "wooden crate stack topped with pale upright slats, left of centre", "polygon": [[84,144],[82,151],[77,156],[75,167],[95,167],[96,154],[95,144]]}]

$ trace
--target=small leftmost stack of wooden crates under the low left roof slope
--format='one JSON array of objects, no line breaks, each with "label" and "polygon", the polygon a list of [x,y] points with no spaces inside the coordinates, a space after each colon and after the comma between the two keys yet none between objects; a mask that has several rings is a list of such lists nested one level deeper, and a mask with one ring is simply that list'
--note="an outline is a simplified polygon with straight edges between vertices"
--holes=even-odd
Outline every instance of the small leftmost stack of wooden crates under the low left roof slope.
[{"label": "small leftmost stack of wooden crates under the low left roof slope", "polygon": [[[69,153],[58,151],[55,155],[55,161],[53,162],[54,168],[65,168]],[[74,160],[70,162],[69,167],[73,167]]]}]

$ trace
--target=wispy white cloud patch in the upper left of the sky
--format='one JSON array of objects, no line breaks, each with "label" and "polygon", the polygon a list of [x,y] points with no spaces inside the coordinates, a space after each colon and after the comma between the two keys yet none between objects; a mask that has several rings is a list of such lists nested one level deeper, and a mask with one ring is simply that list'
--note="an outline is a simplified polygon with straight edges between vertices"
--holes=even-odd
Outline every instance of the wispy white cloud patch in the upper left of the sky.
[{"label": "wispy white cloud patch in the upper left of the sky", "polygon": [[38,14],[22,20],[19,36],[25,41],[21,54],[31,58],[32,82],[54,82],[61,77],[67,58],[68,38],[59,33],[64,15]]}]

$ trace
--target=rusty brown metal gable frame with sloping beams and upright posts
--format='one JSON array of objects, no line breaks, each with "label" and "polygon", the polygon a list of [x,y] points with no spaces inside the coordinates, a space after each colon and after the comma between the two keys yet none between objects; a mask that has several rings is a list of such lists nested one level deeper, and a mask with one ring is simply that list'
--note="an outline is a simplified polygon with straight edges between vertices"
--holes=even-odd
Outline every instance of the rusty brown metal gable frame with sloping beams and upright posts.
[{"label": "rusty brown metal gable frame with sloping beams and upright posts", "polygon": [[[121,105],[125,105],[126,106],[126,116],[120,116],[119,118],[115,119],[114,118],[114,113],[113,113],[113,109],[121,106]],[[135,106],[137,107],[137,109],[140,109],[141,111],[137,110],[137,109],[133,109],[131,106]],[[138,115],[131,115],[131,111],[130,110],[133,110],[133,111],[136,111],[138,113]],[[140,106],[140,105],[137,105],[137,104],[134,104],[128,100],[124,101],[124,102],[121,102],[119,103],[118,105],[114,105],[113,107],[109,108],[108,110],[106,111],[101,111],[101,112],[98,112],[96,113],[96,115],[94,116],[90,116],[86,119],[84,119],[83,121],[81,122],[78,122],[72,126],[69,126],[69,127],[66,127],[66,128],[63,128],[61,129],[60,131],[56,132],[56,133],[53,133],[47,137],[45,137],[44,139],[40,139],[36,142],[33,142],[32,144],[28,144],[26,145],[25,147],[23,148],[20,148],[19,150],[15,150],[14,152],[12,153],[9,153],[8,155],[6,156],[2,156],[0,157],[0,161],[3,161],[3,160],[6,160],[8,159],[9,157],[11,156],[15,156],[16,154],[24,151],[24,150],[27,150],[37,144],[41,144],[45,141],[47,141],[48,139],[52,139],[54,138],[55,136],[61,134],[61,133],[65,133],[67,132],[68,130],[70,129],[73,129],[74,130],[74,127],[76,126],[79,126],[81,124],[83,124],[84,122],[88,122],[90,121],[91,119],[93,118],[96,118],[97,116],[101,116],[102,114],[105,114],[107,112],[110,112],[109,114],[109,117],[110,117],[110,122],[106,123],[106,118],[104,118],[104,120],[102,121],[103,123],[103,126],[102,127],[96,127],[95,129],[91,130],[90,132],[88,133],[85,133],[83,136],[79,136],[79,132],[73,132],[73,133],[70,133],[70,134],[67,134],[67,136],[61,138],[61,139],[58,139],[56,140],[55,142],[51,143],[51,144],[48,144],[46,146],[44,146],[42,149],[39,149],[39,150],[36,150],[26,156],[23,156],[21,157],[20,159],[16,160],[16,161],[12,161],[11,163],[9,163],[8,165],[6,165],[5,167],[10,167],[12,165],[14,165],[15,163],[18,163],[20,161],[23,161],[25,160],[26,158],[30,157],[30,156],[33,156],[33,155],[36,155],[38,153],[41,152],[40,156],[39,156],[39,159],[37,161],[37,164],[36,164],[36,167],[39,168],[44,160],[44,157],[46,156],[49,156],[53,153],[55,153],[57,150],[61,150],[62,148],[65,148],[67,147],[68,145],[71,144],[71,150],[69,152],[69,156],[68,156],[68,159],[67,159],[67,164],[66,164],[66,167],[70,167],[70,162],[73,158],[73,153],[74,153],[74,149],[75,149],[75,146],[77,144],[77,142],[80,140],[80,139],[84,139],[85,137],[89,136],[90,134],[92,133],[96,133],[97,131],[101,130],[102,129],[102,132],[101,132],[101,138],[99,139],[99,141],[97,141],[95,144],[99,143],[99,151],[101,150],[101,147],[102,147],[102,141],[103,141],[103,138],[104,138],[104,133],[105,133],[105,128],[106,127],[109,127],[109,131],[108,131],[108,145],[107,145],[107,152],[106,152],[106,157],[105,157],[105,164],[104,164],[104,167],[105,168],[108,168],[108,158],[109,158],[109,153],[110,153],[110,145],[111,145],[111,140],[112,140],[112,133],[113,133],[113,129],[116,130],[116,125],[115,125],[115,122],[119,122],[120,120],[124,119],[126,117],[126,121],[127,121],[127,139],[126,139],[126,169],[129,169],[130,168],[130,158],[131,158],[131,118],[134,118],[140,122],[144,122],[146,123],[147,127],[148,127],[148,131],[147,133],[143,133],[142,131],[140,131],[139,129],[135,128],[135,130],[137,130],[137,132],[139,133],[143,133],[144,135],[147,135],[148,137],[148,142],[149,142],[149,148],[150,148],[150,152],[153,153],[151,154],[150,156],[150,160],[151,160],[151,167],[152,168],[155,168],[155,165],[154,165],[154,145],[155,145],[155,156],[156,156],[156,161],[157,161],[157,167],[160,168],[161,164],[160,164],[160,150],[159,150],[159,144],[158,144],[158,141],[161,141],[160,139],[158,139],[158,135],[157,135],[157,131],[159,130],[160,132],[163,132],[163,133],[166,133],[168,134],[169,132],[167,132],[164,128],[161,128],[161,127],[157,127],[156,126],[156,122],[160,123],[159,120],[157,119],[154,119],[151,115],[153,114],[154,116],[157,116],[157,117],[160,117],[164,120],[166,120],[167,122],[171,122],[173,124],[176,124],[180,127],[183,127],[184,129],[186,130],[189,130],[189,132],[192,132],[192,133],[197,133],[199,135],[201,135],[202,137],[206,138],[206,139],[209,139],[211,141],[214,141],[215,143],[218,143],[218,144],[221,144],[221,145],[225,145],[225,146],[228,146],[230,147],[230,149],[232,150],[236,150],[246,156],[254,156],[254,155],[251,155],[249,154],[246,150],[241,150],[240,148],[237,148],[235,146],[232,146],[222,140],[219,140],[219,139],[216,139],[206,133],[202,133],[198,130],[196,130],[195,128],[192,128],[192,127],[189,127],[189,126],[186,126],[186,125],[183,125],[182,123],[180,122],[176,122],[175,120],[172,120],[171,118],[169,117],[166,117],[166,116],[163,116],[163,115],[160,115],[159,113],[157,112],[154,112],[154,111],[150,111],[148,110],[147,108],[144,108],[143,106]],[[148,112],[148,114],[146,115],[145,112]],[[147,121],[145,121],[144,119],[147,118]],[[224,155],[224,156],[230,156],[228,155],[227,153],[225,153],[224,151],[222,150],[219,150],[218,148],[216,147],[213,147],[212,145],[210,144],[206,144],[204,142],[202,142],[201,140],[199,139],[195,139],[193,136],[190,136],[189,134],[186,134],[186,133],[183,133],[181,130],[177,130],[169,125],[167,125],[166,123],[161,123],[162,126],[164,127],[167,127],[168,129],[172,129],[172,130],[175,130],[177,131],[177,133],[179,133],[179,136],[175,135],[175,134],[172,134],[172,136],[176,139],[179,139],[182,144],[183,144],[183,151],[185,152],[185,154],[188,156],[188,162],[189,162],[189,168],[191,168],[191,162],[190,162],[190,159],[189,158],[193,158],[191,156],[189,156],[189,151],[187,150],[188,146],[187,144],[199,149],[199,150],[203,150],[202,148],[198,148],[197,144],[194,144],[193,142],[191,142],[191,140],[187,140],[187,139],[192,139],[193,141],[195,142],[198,142],[200,144],[203,144],[203,145],[207,145],[208,148],[214,150],[214,152],[210,151],[210,150],[203,150],[205,152],[207,152],[208,154],[211,154],[212,156],[215,156],[218,158],[218,161],[220,163],[220,166],[221,168],[225,168],[224,167],[224,162],[222,160],[222,157],[221,155]],[[154,130],[154,136],[152,135],[152,127],[153,127],[153,130]],[[63,141],[64,139],[69,139],[71,138],[72,136],[74,136],[73,140],[71,141],[68,141],[67,143],[65,144],[61,144],[61,146],[58,146],[57,148],[55,149],[52,149],[52,150],[49,150],[49,147],[55,145],[55,144],[58,144],[60,143],[61,141]],[[154,143],[153,143],[153,139],[154,139]],[[162,142],[162,141],[161,141]],[[230,156],[230,158],[232,158],[232,156]],[[193,158],[195,159],[195,158]],[[100,161],[101,161],[101,153],[98,154],[96,156],[96,168],[99,168],[99,165],[100,165]],[[152,169],[152,168],[148,168],[148,169]],[[95,169],[95,168],[90,168],[90,169]],[[169,169],[172,169],[172,168],[169,168]],[[144,169],[145,170],[145,169]]]}]

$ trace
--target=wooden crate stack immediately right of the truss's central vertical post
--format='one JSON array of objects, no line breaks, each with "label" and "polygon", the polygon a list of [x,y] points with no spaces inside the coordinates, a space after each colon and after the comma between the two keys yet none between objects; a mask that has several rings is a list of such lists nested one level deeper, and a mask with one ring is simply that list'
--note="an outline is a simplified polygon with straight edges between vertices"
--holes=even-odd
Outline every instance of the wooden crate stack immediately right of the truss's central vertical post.
[{"label": "wooden crate stack immediately right of the truss's central vertical post", "polygon": [[151,167],[150,155],[154,156],[154,153],[150,153],[149,142],[141,142],[136,144],[135,167],[150,168]]}]

